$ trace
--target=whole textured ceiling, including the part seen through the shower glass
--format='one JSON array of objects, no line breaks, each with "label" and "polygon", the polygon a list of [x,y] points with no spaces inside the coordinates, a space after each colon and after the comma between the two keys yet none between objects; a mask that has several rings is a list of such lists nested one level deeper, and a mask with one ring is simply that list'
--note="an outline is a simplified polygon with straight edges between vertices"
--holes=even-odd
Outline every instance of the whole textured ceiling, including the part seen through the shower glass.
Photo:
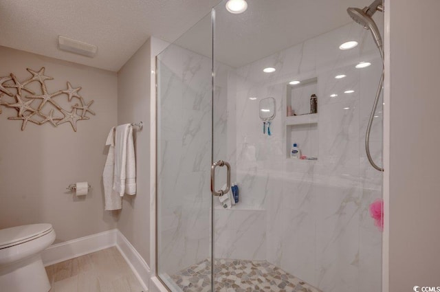
[{"label": "whole textured ceiling, including the part seen through the shower glass", "polygon": [[[1,0],[0,45],[118,71],[150,37],[210,56],[210,12],[219,0]],[[248,0],[243,14],[216,8],[215,54],[239,67],[349,23],[365,0]],[[188,32],[187,32],[188,31]],[[57,48],[58,35],[98,46],[95,58]]]}]

